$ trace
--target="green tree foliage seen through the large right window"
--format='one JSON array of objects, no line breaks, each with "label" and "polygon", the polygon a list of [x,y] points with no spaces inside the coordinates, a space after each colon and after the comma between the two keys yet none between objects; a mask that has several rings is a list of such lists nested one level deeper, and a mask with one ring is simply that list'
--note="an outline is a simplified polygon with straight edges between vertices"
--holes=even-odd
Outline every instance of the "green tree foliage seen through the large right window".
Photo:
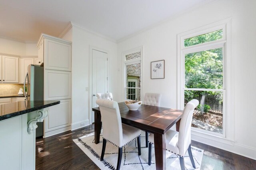
[{"label": "green tree foliage seen through the large right window", "polygon": [[[222,29],[184,40],[184,46],[201,44],[222,38]],[[210,49],[185,55],[186,88],[223,88],[222,48]],[[185,103],[202,95],[220,95],[222,92],[204,92],[185,90]],[[216,96],[217,97],[217,96]],[[219,98],[219,97],[218,97]]]}]

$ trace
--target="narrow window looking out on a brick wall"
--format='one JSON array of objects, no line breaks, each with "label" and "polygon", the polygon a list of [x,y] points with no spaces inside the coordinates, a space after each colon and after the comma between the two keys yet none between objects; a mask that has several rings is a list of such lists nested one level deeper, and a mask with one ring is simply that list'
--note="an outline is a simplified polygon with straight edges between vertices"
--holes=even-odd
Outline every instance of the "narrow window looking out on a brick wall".
[{"label": "narrow window looking out on a brick wall", "polygon": [[125,99],[141,100],[142,65],[141,49],[132,50],[124,55]]}]

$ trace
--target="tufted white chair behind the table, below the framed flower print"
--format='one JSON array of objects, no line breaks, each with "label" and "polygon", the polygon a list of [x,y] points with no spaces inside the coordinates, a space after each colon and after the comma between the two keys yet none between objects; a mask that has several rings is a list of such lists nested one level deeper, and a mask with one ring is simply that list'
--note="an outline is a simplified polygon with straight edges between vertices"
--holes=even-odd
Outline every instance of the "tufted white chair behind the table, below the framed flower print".
[{"label": "tufted white chair behind the table, below the framed flower print", "polygon": [[[161,97],[162,95],[158,93],[145,93],[143,104],[150,105],[150,106],[160,106]],[[145,131],[145,137],[146,137],[146,147],[148,147],[147,131]]]}]

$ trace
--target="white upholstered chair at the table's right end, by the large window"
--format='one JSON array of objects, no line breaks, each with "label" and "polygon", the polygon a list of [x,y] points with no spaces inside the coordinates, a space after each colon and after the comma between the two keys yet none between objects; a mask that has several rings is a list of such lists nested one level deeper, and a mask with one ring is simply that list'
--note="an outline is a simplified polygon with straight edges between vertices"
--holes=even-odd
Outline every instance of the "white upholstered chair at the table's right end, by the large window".
[{"label": "white upholstered chair at the table's right end, by the large window", "polygon": [[[180,156],[180,167],[182,170],[186,170],[184,163],[186,151],[188,151],[192,166],[196,168],[191,152],[191,123],[194,109],[198,104],[199,102],[196,99],[193,99],[186,104],[182,113],[179,132],[171,129],[166,132],[166,150]],[[152,144],[154,144],[154,134],[149,135],[148,142],[148,164],[150,165],[152,158]]]}]

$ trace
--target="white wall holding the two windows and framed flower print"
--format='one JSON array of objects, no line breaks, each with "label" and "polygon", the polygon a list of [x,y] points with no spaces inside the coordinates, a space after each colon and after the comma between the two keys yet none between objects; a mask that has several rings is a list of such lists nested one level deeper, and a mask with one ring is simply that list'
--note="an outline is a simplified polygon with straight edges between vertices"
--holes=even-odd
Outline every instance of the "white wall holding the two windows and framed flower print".
[{"label": "white wall holding the two windows and framed flower print", "polygon": [[[193,136],[195,140],[256,159],[256,1],[219,0],[182,14],[118,43],[118,66],[122,52],[143,45],[143,88],[162,94],[163,107],[177,107],[177,34],[232,17],[232,75],[234,97],[234,143],[226,144]],[[150,79],[150,62],[165,60],[165,79]],[[122,72],[118,72],[118,80]],[[122,92],[122,81],[118,81]],[[123,101],[121,96],[118,101]],[[228,144],[229,143],[229,144]]]}]

